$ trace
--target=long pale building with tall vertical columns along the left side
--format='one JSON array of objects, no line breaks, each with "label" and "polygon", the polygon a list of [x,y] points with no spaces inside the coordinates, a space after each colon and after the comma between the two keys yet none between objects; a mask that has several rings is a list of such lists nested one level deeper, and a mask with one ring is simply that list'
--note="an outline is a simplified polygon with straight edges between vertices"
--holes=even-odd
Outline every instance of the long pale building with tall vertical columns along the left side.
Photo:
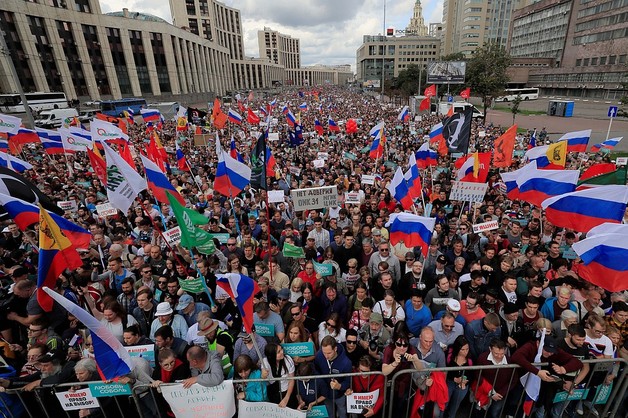
[{"label": "long pale building with tall vertical columns along the left side", "polygon": [[[282,64],[245,57],[239,10],[216,0],[170,6],[174,24],[127,9],[103,14],[98,0],[2,0],[0,93],[21,85],[26,92],[62,91],[69,100],[200,103],[305,79],[289,76]],[[308,79],[342,79],[328,72]]]}]

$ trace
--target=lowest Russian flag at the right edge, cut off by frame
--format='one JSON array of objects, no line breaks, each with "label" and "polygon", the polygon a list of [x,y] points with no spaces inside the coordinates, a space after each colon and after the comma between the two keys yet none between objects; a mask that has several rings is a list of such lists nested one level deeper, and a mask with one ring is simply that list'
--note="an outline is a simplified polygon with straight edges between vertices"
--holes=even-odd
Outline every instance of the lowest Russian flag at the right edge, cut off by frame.
[{"label": "lowest Russian flag at the right edge, cut off by frame", "polygon": [[587,234],[572,246],[584,263],[578,275],[610,292],[624,291],[628,283],[628,226],[621,227],[617,233]]}]

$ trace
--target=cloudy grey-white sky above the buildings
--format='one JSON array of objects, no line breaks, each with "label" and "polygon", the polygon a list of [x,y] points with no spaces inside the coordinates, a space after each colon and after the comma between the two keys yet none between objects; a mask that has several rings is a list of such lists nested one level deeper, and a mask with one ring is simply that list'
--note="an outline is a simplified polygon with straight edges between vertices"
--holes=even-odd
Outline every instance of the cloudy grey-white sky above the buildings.
[{"label": "cloudy grey-white sky above the buildings", "polygon": [[[183,0],[179,0],[183,1]],[[301,64],[351,64],[363,35],[377,35],[384,28],[385,0],[225,0],[240,9],[244,48],[259,57],[257,31],[268,26],[301,40]],[[405,29],[415,0],[387,0],[386,27]],[[421,2],[425,24],[440,22],[443,0]],[[168,0],[101,0],[103,13],[123,7],[145,12],[172,23]]]}]

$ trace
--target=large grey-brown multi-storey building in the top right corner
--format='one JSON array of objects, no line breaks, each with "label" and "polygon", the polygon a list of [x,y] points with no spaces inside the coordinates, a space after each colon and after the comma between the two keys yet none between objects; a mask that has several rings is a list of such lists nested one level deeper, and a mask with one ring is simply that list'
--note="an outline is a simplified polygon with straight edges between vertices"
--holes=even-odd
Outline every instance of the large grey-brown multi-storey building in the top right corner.
[{"label": "large grey-brown multi-storey building in the top right corner", "polygon": [[[542,94],[609,100],[626,94],[628,0],[543,0],[516,13],[512,26],[511,54],[555,60],[550,68],[529,70],[528,85]],[[536,49],[527,39],[535,35],[541,37]]]}]

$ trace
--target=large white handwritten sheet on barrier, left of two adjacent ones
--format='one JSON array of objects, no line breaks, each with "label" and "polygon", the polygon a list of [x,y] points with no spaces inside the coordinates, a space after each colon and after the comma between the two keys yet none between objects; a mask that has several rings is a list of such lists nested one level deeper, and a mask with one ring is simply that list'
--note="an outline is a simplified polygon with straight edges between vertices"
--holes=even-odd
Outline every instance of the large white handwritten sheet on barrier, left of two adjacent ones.
[{"label": "large white handwritten sheet on barrier, left of two adjacent ones", "polygon": [[181,384],[160,388],[177,418],[231,418],[235,414],[231,380],[209,388],[199,384],[188,389]]}]

